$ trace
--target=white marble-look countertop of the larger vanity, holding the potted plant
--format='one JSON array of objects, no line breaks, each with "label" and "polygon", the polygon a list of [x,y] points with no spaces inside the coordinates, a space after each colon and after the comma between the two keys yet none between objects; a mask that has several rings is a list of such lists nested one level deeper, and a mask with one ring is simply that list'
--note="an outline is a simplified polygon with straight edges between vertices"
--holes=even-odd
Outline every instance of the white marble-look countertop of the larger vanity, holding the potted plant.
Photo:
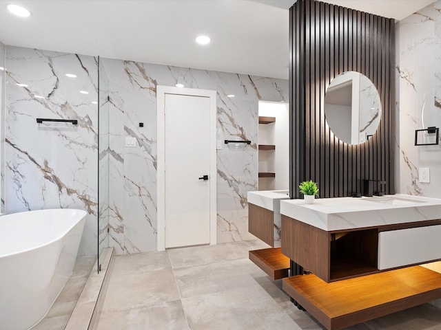
[{"label": "white marble-look countertop of the larger vanity, holding the potted plant", "polygon": [[280,213],[326,231],[441,219],[441,199],[384,195],[280,201]]}]

